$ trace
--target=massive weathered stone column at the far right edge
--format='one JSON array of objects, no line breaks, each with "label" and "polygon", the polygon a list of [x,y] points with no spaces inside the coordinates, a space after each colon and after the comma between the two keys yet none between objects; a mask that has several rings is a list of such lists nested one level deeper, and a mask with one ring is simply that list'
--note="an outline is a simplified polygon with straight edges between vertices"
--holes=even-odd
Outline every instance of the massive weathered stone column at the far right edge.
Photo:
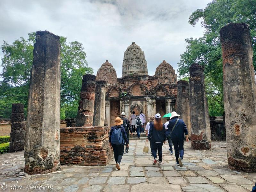
[{"label": "massive weathered stone column at the far right edge", "polygon": [[245,23],[220,30],[228,164],[256,171],[256,84],[252,42]]}]

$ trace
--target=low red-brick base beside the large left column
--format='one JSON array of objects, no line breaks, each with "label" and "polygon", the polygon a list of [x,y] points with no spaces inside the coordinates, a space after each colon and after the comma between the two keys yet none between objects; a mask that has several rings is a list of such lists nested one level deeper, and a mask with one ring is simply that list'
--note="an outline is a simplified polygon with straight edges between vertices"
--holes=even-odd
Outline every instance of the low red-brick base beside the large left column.
[{"label": "low red-brick base beside the large left column", "polygon": [[108,145],[109,127],[60,129],[60,164],[106,165],[113,150]]}]

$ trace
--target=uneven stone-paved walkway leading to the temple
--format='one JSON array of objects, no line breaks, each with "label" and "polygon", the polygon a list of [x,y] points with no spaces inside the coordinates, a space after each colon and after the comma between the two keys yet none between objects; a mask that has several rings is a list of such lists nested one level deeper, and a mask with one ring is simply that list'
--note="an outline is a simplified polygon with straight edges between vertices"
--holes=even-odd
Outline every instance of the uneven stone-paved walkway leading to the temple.
[{"label": "uneven stone-paved walkway leading to the temple", "polygon": [[[143,154],[145,140],[131,140],[130,151],[123,156],[121,171],[111,161],[108,166],[62,166],[62,171],[45,175],[24,175],[23,152],[0,155],[0,184],[3,190],[21,186],[16,191],[65,192],[242,192],[250,191],[256,173],[240,173],[228,169],[225,142],[212,142],[212,149],[198,151],[186,143],[184,167],[175,166],[175,156],[163,147],[163,164],[153,166],[153,157]],[[6,184],[6,185],[5,185]],[[52,190],[39,190],[39,186],[53,186]],[[34,186],[37,190],[28,190]]]}]

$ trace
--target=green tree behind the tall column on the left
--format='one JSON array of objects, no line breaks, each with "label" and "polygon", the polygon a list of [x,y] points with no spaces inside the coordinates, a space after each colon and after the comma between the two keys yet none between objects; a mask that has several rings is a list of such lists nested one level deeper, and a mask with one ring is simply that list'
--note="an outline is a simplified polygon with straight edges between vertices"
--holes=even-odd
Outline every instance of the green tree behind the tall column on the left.
[{"label": "green tree behind the tall column on the left", "polygon": [[[26,112],[35,35],[34,32],[29,33],[28,39],[20,37],[13,44],[3,41],[1,46],[4,53],[3,70],[0,74],[3,78],[0,82],[0,117],[2,118],[10,117],[11,104],[15,102],[23,103]],[[60,45],[61,118],[64,119],[66,115],[68,118],[74,118],[77,112],[82,76],[86,73],[93,73],[93,70],[88,67],[86,53],[81,43],[78,41],[67,43],[67,38],[60,36]]]}]

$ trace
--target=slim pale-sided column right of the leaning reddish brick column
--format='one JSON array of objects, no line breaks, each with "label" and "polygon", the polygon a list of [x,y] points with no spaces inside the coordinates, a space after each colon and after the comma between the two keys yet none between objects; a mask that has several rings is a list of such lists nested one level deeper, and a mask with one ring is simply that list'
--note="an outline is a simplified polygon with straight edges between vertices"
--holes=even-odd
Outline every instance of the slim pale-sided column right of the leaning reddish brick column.
[{"label": "slim pale-sided column right of the leaning reddish brick column", "polygon": [[93,126],[104,126],[106,81],[96,81]]}]

